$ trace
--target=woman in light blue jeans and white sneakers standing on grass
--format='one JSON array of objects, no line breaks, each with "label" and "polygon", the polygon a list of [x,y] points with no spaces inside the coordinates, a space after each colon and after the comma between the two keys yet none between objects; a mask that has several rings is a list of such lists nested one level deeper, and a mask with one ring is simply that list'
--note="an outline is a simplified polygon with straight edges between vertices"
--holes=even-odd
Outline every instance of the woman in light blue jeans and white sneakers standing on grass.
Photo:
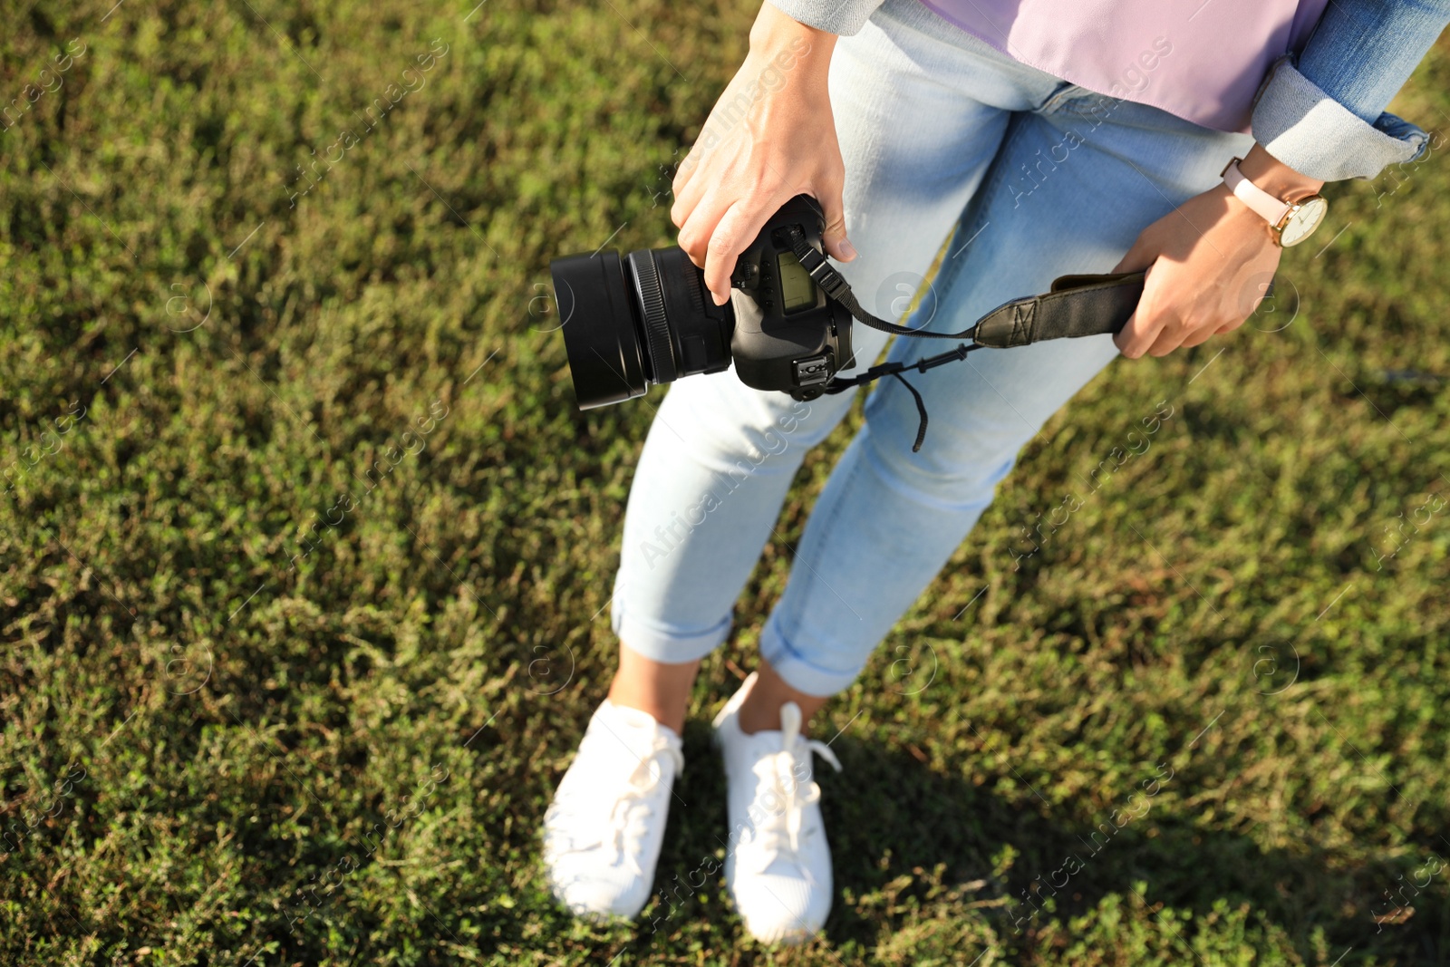
[{"label": "woman in light blue jeans and white sneakers standing on grass", "polygon": [[[905,387],[883,383],[867,400],[761,631],[760,665],[715,719],[725,879],[751,934],[803,939],[829,912],[812,754],[840,764],[805,723],[1088,380],[1119,354],[1160,357],[1241,325],[1282,245],[1318,228],[1324,181],[1424,151],[1422,130],[1382,112],[1447,20],[1450,0],[761,9],[674,180],[680,245],[716,303],[735,257],[799,193],[822,203],[826,251],[879,316],[900,315],[956,232],[912,326],[966,329],[1064,274],[1147,270],[1147,281],[1118,336],[914,374],[932,416],[919,454]],[[853,339],[870,365],[887,336],[857,325]],[[914,342],[898,339],[890,358],[918,358]],[[850,404],[798,403],[721,373],[682,381],[660,407],[615,583],[619,671],[545,819],[550,880],[576,912],[634,916],[648,899],[699,661],[729,634],[802,457]]]}]

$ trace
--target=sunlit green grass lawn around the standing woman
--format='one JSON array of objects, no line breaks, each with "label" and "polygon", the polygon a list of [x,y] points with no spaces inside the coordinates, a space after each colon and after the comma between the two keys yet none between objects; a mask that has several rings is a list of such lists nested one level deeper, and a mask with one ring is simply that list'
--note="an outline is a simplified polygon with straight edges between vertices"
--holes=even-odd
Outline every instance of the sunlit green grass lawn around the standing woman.
[{"label": "sunlit green grass lawn around the standing woman", "polygon": [[[696,873],[706,722],[858,410],[693,696],[657,886],[702,886],[577,924],[536,838],[650,422],[574,409],[538,296],[671,241],[748,4],[83,6],[0,39],[6,103],[84,46],[0,132],[0,961],[1450,963],[1440,151],[1333,188],[1263,331],[1116,364],[1030,447],[828,707],[837,903],[768,951]],[[1450,129],[1447,90],[1441,46],[1401,110]]]}]

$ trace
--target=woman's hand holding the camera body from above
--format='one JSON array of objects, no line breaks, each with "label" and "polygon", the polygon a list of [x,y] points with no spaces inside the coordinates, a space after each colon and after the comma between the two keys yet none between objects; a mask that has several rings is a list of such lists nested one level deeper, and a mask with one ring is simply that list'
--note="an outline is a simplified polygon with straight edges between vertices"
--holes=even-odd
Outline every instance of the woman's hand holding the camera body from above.
[{"label": "woman's hand holding the camera body from above", "polygon": [[763,4],[745,62],[680,162],[670,217],[718,306],[729,300],[735,260],[798,194],[815,197],[825,212],[826,254],[856,258],[845,238],[845,165],[826,91],[834,49],[834,33]]}]

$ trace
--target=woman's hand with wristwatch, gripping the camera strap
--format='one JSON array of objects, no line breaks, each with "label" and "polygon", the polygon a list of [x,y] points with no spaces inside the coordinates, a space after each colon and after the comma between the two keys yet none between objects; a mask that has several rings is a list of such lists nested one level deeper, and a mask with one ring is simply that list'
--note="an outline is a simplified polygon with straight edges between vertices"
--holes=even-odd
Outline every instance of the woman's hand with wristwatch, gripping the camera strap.
[{"label": "woman's hand with wristwatch, gripping the camera strap", "polygon": [[[1306,178],[1254,145],[1238,170],[1275,197],[1302,197]],[[1230,332],[1259,307],[1283,249],[1262,216],[1219,184],[1143,229],[1115,273],[1147,268],[1143,299],[1114,342],[1137,360]]]}]

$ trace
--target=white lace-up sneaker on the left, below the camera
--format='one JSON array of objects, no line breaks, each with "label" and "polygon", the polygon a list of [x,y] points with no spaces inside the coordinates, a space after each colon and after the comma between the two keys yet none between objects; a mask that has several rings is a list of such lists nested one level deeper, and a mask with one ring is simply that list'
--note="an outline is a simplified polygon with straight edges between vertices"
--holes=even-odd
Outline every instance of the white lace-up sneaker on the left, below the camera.
[{"label": "white lace-up sneaker on the left, below the camera", "polygon": [[684,768],[680,736],[648,712],[605,699],[544,813],[544,866],[576,916],[634,918],[650,899]]}]

